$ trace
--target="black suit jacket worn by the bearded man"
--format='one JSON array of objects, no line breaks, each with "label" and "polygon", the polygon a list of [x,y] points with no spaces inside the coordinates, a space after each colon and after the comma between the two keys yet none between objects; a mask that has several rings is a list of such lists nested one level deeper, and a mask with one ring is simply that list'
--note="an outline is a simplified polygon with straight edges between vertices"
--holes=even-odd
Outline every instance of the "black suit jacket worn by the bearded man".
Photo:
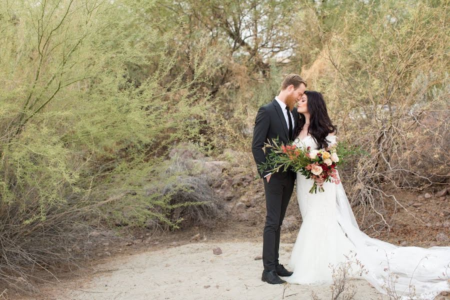
[{"label": "black suit jacket worn by the bearded man", "polygon": [[[292,110],[294,119],[292,135],[295,134],[295,128],[298,124],[298,112],[294,108]],[[271,148],[262,150],[264,143],[278,137],[278,141],[283,144],[290,143],[293,136],[288,138],[288,129],[286,119],[278,102],[273,99],[272,102],[259,107],[258,113],[254,120],[253,141],[251,143],[251,152],[257,165],[266,162],[266,156],[271,152]],[[264,177],[268,174],[268,169],[259,171],[259,176]]]}]

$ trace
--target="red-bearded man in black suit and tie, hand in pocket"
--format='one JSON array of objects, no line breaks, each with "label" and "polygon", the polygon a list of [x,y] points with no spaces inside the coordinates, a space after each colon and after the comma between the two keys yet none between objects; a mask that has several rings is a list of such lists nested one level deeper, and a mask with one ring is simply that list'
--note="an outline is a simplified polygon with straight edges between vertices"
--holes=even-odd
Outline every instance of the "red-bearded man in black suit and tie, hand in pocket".
[{"label": "red-bearded man in black suit and tie, hand in pocket", "polygon": [[[294,104],[306,89],[306,81],[297,74],[287,75],[281,83],[279,94],[268,104],[259,107],[254,120],[251,151],[256,164],[266,161],[270,148],[262,150],[264,143],[278,137],[278,141],[288,144],[294,139],[298,112]],[[287,204],[292,194],[295,173],[291,170],[270,173],[259,171],[264,181],[266,217],[262,245],[262,281],[271,284],[285,283],[279,276],[290,276],[278,262],[280,226],[283,222]]]}]

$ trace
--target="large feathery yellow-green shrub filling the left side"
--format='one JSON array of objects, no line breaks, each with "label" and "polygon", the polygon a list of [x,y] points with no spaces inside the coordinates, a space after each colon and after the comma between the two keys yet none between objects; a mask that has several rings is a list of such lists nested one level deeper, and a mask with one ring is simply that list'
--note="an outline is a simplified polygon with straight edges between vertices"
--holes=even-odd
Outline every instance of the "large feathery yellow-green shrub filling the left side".
[{"label": "large feathery yellow-green shrub filling the left side", "polygon": [[135,189],[158,178],[176,142],[201,141],[201,84],[219,63],[199,39],[177,69],[183,49],[169,41],[179,27],[160,32],[154,5],[0,3],[2,279],[73,261],[85,226],[113,219],[123,202],[129,224],[179,221],[148,209],[170,208],[170,198]]}]

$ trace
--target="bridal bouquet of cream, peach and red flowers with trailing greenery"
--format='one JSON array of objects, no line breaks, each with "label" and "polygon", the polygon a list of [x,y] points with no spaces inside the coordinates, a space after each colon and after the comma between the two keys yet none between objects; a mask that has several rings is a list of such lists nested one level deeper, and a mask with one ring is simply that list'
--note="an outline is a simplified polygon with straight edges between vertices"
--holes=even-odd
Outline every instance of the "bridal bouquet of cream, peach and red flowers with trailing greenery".
[{"label": "bridal bouquet of cream, peach and red flowers with trailing greenery", "polygon": [[[324,182],[340,183],[336,167],[341,163],[340,156],[346,154],[340,144],[333,144],[329,150],[315,150],[307,147],[299,148],[293,145],[278,145],[275,140],[266,146],[271,147],[272,151],[267,157],[265,164],[260,165],[260,170],[271,168],[271,172],[276,172],[280,168],[287,170],[291,168],[295,172],[300,172],[307,179],[323,179]],[[309,193],[324,191],[322,186],[317,185],[313,180]]]}]

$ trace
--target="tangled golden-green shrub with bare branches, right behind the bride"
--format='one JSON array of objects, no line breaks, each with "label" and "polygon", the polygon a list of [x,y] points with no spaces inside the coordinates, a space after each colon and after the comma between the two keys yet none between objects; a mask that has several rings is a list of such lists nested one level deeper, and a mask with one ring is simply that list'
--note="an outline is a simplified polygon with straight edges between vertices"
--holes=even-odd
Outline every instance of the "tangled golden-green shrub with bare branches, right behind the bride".
[{"label": "tangled golden-green shrub with bare branches, right behind the bride", "polygon": [[[322,45],[311,64],[320,67],[306,72],[311,88],[324,93],[340,138],[365,153],[345,172],[353,204],[378,216],[364,226],[388,228],[383,202],[405,207],[391,191],[448,182],[446,10],[427,1],[344,1],[316,13],[324,17],[315,22]],[[304,28],[314,20],[298,17]]]}]

